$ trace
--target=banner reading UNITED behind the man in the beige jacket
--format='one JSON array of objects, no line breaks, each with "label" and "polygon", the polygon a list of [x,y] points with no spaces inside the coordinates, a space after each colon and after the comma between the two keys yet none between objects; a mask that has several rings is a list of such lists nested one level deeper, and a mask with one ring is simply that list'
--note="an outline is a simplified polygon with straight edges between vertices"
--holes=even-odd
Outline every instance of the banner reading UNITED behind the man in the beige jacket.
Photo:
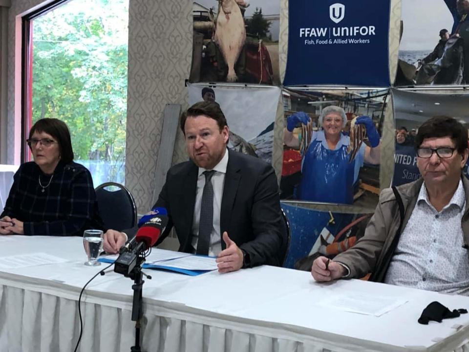
[{"label": "banner reading UNITED behind the man in the beige jacket", "polygon": [[[469,94],[464,90],[451,94],[429,94],[391,89],[394,104],[395,153],[393,186],[399,186],[420,178],[415,137],[419,127],[432,116],[451,116],[469,129]],[[462,170],[469,178],[469,160]]]}]

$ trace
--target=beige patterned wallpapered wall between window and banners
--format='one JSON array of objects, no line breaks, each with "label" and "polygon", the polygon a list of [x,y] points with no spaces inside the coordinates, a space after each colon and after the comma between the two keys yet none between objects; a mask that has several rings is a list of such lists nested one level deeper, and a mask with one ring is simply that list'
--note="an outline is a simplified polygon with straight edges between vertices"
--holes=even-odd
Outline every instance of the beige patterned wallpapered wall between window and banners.
[{"label": "beige patterned wallpapered wall between window and banners", "polygon": [[[152,204],[163,110],[187,108],[192,53],[192,1],[130,0],[126,184],[140,212]],[[185,159],[178,131],[173,159]]]}]

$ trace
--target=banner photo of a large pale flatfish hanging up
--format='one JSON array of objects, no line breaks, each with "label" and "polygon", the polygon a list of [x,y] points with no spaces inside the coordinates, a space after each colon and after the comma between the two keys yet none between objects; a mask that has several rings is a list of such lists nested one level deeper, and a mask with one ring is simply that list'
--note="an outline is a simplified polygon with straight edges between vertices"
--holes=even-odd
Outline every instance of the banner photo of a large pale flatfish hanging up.
[{"label": "banner photo of a large pale flatfish hanging up", "polygon": [[247,0],[193,2],[190,82],[279,85],[280,3],[254,0],[253,5]]}]

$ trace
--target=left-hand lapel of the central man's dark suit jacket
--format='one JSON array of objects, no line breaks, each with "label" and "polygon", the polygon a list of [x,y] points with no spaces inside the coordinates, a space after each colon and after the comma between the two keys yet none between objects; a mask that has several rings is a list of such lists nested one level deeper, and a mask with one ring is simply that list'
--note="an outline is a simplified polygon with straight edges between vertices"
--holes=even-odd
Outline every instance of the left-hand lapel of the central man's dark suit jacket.
[{"label": "left-hand lapel of the central man's dark suit jacket", "polygon": [[195,207],[195,193],[197,191],[197,174],[198,167],[191,163],[188,173],[183,176],[183,217],[185,219],[185,242],[181,243],[181,247],[184,251],[187,250],[187,246],[191,243],[192,239],[192,222],[194,219],[194,207]]}]

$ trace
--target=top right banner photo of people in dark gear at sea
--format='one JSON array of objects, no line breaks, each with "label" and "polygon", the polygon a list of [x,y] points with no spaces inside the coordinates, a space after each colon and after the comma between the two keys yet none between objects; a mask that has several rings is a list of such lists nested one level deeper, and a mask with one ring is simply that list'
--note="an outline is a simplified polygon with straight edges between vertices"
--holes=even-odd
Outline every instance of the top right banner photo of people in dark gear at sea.
[{"label": "top right banner photo of people in dark gear at sea", "polygon": [[[469,67],[469,46],[465,48],[469,38],[464,38],[468,37],[465,22],[469,1],[415,0],[403,1],[402,5],[395,86],[469,83],[464,73]],[[419,16],[422,8],[428,16]],[[436,33],[440,39],[435,46]]]}]

